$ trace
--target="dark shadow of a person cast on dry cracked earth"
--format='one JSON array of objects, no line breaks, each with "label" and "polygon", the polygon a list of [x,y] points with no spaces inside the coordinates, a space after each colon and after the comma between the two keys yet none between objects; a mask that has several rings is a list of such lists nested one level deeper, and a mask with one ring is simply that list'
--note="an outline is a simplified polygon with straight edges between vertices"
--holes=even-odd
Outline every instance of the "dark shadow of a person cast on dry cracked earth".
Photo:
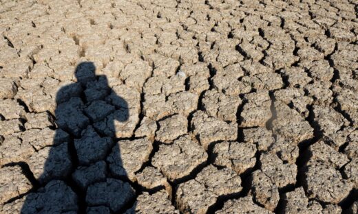
[{"label": "dark shadow of a person cast on dry cracked earth", "polygon": [[134,198],[125,169],[120,179],[108,178],[105,162],[115,154],[123,166],[115,123],[128,120],[129,107],[95,70],[93,62],[81,62],[77,81],[56,93],[53,145],[36,154],[40,188],[26,196],[21,213],[77,213],[85,206],[87,213],[118,212]]}]

